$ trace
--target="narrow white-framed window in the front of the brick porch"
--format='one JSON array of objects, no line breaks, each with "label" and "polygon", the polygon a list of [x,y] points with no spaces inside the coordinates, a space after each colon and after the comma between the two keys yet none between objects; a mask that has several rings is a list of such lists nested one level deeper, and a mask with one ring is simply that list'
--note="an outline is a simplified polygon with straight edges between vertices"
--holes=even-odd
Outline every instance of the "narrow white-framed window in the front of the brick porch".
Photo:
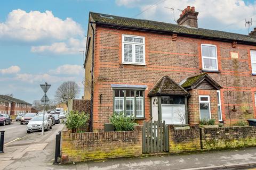
[{"label": "narrow white-framed window in the front of the brick porch", "polygon": [[210,96],[199,96],[200,120],[211,118]]}]

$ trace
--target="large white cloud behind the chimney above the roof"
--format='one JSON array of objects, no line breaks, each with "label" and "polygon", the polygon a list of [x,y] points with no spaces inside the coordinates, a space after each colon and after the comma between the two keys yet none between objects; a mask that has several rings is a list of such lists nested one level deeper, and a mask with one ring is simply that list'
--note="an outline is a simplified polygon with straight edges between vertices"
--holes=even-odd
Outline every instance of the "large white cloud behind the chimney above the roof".
[{"label": "large white cloud behind the chimney above the roof", "polygon": [[[141,11],[147,9],[149,6],[156,3],[156,1],[142,1],[142,0],[116,0],[117,5],[124,5],[126,7],[139,7]],[[199,12],[198,24],[199,27],[208,29],[222,29],[228,27],[233,30],[243,30],[245,18],[255,18],[254,11],[256,10],[256,3],[245,3],[242,0],[172,0],[164,1],[141,14],[141,18],[153,19],[164,22],[173,21],[173,12],[165,7],[175,8],[175,18],[178,19],[181,11],[186,6],[195,6],[196,11]],[[251,17],[254,16],[254,17]],[[255,22],[253,23],[255,27]]]}]

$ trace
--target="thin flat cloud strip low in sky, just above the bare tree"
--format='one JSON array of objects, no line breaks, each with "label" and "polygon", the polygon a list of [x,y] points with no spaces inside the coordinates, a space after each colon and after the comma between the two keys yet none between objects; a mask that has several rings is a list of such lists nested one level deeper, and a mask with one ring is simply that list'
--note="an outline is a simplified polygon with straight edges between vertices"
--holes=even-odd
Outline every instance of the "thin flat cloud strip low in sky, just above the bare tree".
[{"label": "thin flat cloud strip low in sky, just above the bare tree", "polygon": [[57,83],[62,81],[69,81],[74,80],[75,77],[58,77],[50,74],[17,74],[17,77],[14,78],[15,80],[20,80],[27,83]]}]

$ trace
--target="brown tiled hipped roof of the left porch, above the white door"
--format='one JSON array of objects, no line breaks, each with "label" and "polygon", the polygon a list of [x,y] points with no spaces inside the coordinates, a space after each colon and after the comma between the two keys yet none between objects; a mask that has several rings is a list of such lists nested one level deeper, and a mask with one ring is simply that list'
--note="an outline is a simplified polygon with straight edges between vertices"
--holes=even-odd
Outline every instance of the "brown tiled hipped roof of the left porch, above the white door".
[{"label": "brown tiled hipped roof of the left porch, above the white door", "polygon": [[183,89],[178,83],[174,82],[167,75],[157,81],[155,86],[149,91],[148,96],[161,95],[179,95],[187,96],[189,93]]}]

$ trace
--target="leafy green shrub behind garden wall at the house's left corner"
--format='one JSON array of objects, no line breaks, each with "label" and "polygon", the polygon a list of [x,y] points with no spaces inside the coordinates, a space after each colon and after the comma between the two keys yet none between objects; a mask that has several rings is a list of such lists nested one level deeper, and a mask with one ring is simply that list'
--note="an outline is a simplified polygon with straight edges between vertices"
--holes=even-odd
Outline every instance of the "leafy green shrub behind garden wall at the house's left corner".
[{"label": "leafy green shrub behind garden wall at the house's left corner", "polygon": [[65,124],[72,132],[83,132],[89,125],[89,119],[89,114],[85,112],[70,111]]}]

